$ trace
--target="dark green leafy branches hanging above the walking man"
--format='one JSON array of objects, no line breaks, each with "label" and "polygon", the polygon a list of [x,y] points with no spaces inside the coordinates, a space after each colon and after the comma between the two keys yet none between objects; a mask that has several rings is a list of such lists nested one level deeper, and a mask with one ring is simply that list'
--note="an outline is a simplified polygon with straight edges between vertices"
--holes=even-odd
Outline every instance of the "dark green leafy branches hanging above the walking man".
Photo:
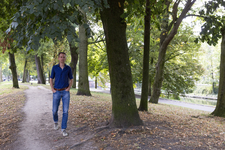
[{"label": "dark green leafy branches hanging above the walking man", "polygon": [[71,43],[77,38],[75,27],[82,23],[80,10],[94,12],[103,6],[107,7],[105,0],[30,0],[14,16],[16,24],[12,27],[17,46],[28,45],[28,50],[37,50],[40,39],[46,37],[53,42],[66,37]]}]

